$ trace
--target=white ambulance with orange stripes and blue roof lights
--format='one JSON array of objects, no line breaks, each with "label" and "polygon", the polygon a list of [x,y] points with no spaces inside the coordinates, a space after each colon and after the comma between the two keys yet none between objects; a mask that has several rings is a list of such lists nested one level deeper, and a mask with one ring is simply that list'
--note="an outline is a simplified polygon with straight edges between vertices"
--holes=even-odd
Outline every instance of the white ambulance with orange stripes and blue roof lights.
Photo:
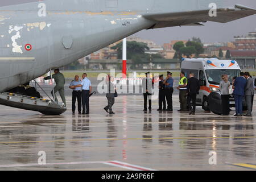
[{"label": "white ambulance with orange stripes and blue roof lights", "polygon": [[[204,110],[209,110],[208,96],[211,92],[220,93],[221,76],[228,75],[229,81],[232,83],[233,77],[238,77],[241,69],[235,60],[183,58],[181,71],[185,73],[187,78],[189,78],[189,73],[194,73],[195,77],[199,79],[201,88],[196,98],[196,104],[202,106]],[[234,107],[233,97],[230,97],[230,107]]]}]

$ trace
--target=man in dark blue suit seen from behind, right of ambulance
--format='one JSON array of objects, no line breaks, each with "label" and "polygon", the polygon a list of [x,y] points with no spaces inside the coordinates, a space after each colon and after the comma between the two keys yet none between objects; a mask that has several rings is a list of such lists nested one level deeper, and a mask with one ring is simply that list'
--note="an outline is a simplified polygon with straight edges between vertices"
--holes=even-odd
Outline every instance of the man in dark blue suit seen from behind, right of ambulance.
[{"label": "man in dark blue suit seen from behind, right of ambulance", "polygon": [[245,96],[245,86],[246,86],[246,80],[245,77],[243,77],[244,73],[240,73],[240,77],[236,78],[234,81],[234,99],[235,99],[235,105],[236,105],[236,115],[235,116],[242,116],[243,113],[243,96]]}]

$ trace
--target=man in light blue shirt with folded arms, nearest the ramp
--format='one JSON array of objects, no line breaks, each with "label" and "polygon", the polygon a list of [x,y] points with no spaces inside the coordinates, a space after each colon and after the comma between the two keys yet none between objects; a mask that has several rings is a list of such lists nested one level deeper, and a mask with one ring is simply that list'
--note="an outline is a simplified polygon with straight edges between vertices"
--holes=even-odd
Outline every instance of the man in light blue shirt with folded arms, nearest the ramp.
[{"label": "man in light blue shirt with folded arms, nearest the ramp", "polygon": [[81,81],[79,80],[79,76],[76,75],[75,76],[75,80],[71,81],[69,88],[73,89],[72,92],[72,113],[75,114],[76,111],[76,100],[77,100],[77,106],[78,106],[78,111],[79,114],[81,114],[81,86],[80,87],[75,87],[73,88],[73,86],[75,85],[81,85]]}]

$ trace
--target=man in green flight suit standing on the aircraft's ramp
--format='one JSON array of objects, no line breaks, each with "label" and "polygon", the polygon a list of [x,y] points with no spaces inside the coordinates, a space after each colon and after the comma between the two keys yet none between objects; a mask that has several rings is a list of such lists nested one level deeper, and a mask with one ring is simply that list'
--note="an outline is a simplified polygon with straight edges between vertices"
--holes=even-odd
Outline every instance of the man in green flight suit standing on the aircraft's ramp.
[{"label": "man in green flight suit standing on the aircraft's ramp", "polygon": [[[58,102],[58,99],[56,97],[56,92],[59,92],[61,100],[66,106],[66,100],[65,100],[65,94],[64,94],[64,85],[65,85],[64,75],[60,73],[60,69],[54,69],[54,73],[55,74],[52,75],[52,78],[54,78],[56,82],[56,86],[54,88],[55,101]],[[47,76],[44,78],[44,80],[50,80],[50,79],[51,79],[51,76]],[[51,92],[51,94],[53,96],[53,92]]]}]

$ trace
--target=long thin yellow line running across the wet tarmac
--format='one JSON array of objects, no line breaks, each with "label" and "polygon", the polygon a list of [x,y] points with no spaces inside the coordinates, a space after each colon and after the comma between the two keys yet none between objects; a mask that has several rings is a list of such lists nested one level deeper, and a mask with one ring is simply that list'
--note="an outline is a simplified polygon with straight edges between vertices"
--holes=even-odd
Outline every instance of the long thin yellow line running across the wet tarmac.
[{"label": "long thin yellow line running across the wet tarmac", "polygon": [[100,138],[100,139],[64,139],[64,140],[46,140],[46,141],[14,141],[14,142],[0,142],[0,144],[11,143],[47,143],[47,142],[90,142],[90,141],[104,141],[104,140],[174,140],[174,139],[248,139],[256,137],[166,137],[166,138]]}]

